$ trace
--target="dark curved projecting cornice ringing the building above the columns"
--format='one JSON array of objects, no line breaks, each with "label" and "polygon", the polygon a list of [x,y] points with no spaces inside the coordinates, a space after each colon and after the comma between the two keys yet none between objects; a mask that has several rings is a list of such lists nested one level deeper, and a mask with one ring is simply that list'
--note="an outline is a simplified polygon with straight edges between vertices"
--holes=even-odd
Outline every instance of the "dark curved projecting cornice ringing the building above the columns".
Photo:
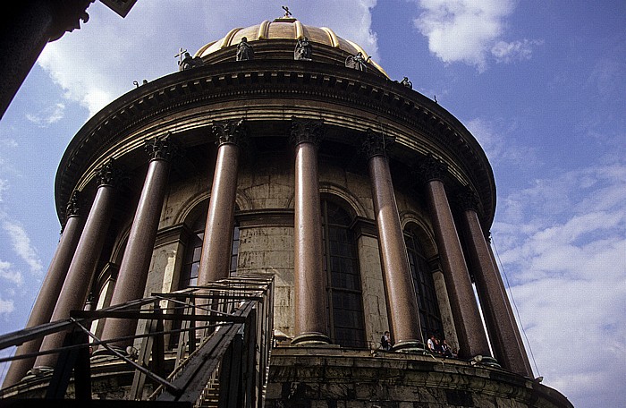
[{"label": "dark curved projecting cornice ringing the building above the columns", "polygon": [[[461,166],[483,200],[486,224],[491,224],[495,212],[491,166],[478,141],[442,106],[400,83],[368,72],[283,60],[209,64],[174,72],[114,100],[80,129],[63,155],[55,183],[57,203],[63,203],[57,204],[59,214],[63,214],[64,203],[78,178],[116,140],[169,115],[201,106],[238,100],[254,106],[255,100],[261,105],[269,98],[307,99],[356,108],[422,134],[444,152],[451,164]],[[398,144],[411,149],[409,139],[397,139]]]}]

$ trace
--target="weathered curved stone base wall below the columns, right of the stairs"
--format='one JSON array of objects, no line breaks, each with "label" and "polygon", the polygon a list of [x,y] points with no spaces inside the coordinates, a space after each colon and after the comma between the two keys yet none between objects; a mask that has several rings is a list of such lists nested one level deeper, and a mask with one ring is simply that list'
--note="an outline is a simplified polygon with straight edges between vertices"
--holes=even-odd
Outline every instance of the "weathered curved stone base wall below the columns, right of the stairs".
[{"label": "weathered curved stone base wall below the columns, right of the stairs", "polygon": [[573,407],[550,387],[471,361],[331,347],[272,352],[266,407]]}]

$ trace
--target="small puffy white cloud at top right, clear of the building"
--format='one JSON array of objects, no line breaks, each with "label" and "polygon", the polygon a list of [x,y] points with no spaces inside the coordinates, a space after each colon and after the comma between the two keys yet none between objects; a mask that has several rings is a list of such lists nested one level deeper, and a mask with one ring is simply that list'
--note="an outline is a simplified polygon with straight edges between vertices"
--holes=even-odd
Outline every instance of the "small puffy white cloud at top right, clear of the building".
[{"label": "small puffy white cloud at top right, clear of the building", "polygon": [[497,62],[528,59],[539,42],[504,42],[512,0],[419,0],[422,13],[414,23],[428,38],[428,49],[445,63],[463,62],[486,69],[488,57]]}]

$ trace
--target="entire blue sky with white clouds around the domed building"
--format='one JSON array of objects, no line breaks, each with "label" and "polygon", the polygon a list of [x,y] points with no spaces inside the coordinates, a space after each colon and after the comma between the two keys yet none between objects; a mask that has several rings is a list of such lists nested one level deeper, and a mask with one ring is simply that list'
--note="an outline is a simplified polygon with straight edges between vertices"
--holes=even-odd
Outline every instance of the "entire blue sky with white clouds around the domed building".
[{"label": "entire blue sky with white clouds around the domed building", "polygon": [[[140,0],[122,19],[97,2],[47,45],[0,121],[0,332],[23,327],[54,254],[56,166],[80,126],[176,71],[179,47],[282,4]],[[626,2],[288,5],[465,123],[494,167],[493,241],[536,374],[576,406],[626,404]]]}]

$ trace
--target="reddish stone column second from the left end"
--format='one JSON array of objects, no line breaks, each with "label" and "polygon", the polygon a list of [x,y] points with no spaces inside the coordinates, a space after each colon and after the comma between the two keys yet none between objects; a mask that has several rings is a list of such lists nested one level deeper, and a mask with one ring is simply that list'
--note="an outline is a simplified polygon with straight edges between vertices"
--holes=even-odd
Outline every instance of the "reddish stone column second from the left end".
[{"label": "reddish stone column second from the left end", "polygon": [[[56,302],[51,321],[68,319],[70,311],[82,310],[89,285],[97,267],[102,246],[106,239],[111,216],[114,209],[115,184],[119,183],[121,172],[115,168],[114,160],[109,159],[106,165],[97,170],[97,192],[94,203],[89,211],[85,228],[74,253],[72,263],[67,272],[63,289]],[[46,336],[41,345],[42,351],[52,350],[63,345],[64,332]],[[56,354],[40,355],[35,367],[54,367]]]}]

